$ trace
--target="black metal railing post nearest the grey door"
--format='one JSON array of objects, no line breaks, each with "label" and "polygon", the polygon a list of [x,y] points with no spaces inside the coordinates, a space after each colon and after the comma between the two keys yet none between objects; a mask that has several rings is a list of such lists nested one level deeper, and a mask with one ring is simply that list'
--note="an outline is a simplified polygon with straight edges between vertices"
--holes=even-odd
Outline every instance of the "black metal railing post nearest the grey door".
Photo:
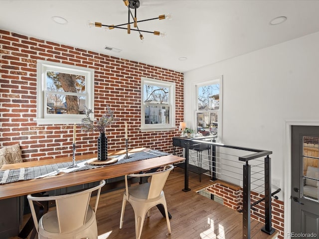
[{"label": "black metal railing post nearest the grey door", "polygon": [[272,235],[275,229],[271,227],[271,160],[269,155],[265,158],[265,227],[264,233]]}]

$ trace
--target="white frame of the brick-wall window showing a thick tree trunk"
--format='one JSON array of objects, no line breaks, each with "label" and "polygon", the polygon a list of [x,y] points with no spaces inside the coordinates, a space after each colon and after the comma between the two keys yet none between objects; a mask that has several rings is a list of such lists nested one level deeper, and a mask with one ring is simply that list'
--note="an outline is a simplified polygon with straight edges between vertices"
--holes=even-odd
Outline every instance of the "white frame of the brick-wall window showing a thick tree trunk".
[{"label": "white frame of the brick-wall window showing a thick tree trunk", "polygon": [[[47,71],[84,75],[86,92],[85,105],[94,111],[94,70],[51,61],[37,61],[37,118],[34,120],[39,125],[81,123],[81,119],[84,118],[85,115],[47,114],[45,97]],[[94,119],[94,116],[91,117]]]}]

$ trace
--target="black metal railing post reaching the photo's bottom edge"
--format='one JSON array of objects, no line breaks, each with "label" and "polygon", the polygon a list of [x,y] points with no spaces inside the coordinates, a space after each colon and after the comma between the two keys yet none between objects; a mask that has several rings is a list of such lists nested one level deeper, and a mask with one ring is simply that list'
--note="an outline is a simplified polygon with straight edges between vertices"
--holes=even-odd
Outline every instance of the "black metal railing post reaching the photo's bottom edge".
[{"label": "black metal railing post reaching the photo's bottom edge", "polygon": [[250,165],[243,166],[243,239],[250,239]]}]

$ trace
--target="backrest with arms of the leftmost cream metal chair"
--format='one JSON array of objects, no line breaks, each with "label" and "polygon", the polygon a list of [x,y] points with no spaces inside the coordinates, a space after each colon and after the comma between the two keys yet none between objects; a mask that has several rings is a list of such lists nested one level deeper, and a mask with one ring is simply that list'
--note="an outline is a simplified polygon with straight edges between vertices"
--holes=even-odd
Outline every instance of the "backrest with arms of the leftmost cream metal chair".
[{"label": "backrest with arms of the leftmost cream metal chair", "polygon": [[60,233],[70,232],[85,224],[91,194],[93,191],[97,190],[97,196],[94,206],[94,212],[96,212],[99,203],[101,188],[104,185],[105,181],[102,180],[96,187],[89,188],[77,193],[51,197],[33,197],[29,194],[27,196],[27,199],[29,201],[36,230],[38,230],[38,220],[36,218],[32,201],[55,201],[59,231]]}]

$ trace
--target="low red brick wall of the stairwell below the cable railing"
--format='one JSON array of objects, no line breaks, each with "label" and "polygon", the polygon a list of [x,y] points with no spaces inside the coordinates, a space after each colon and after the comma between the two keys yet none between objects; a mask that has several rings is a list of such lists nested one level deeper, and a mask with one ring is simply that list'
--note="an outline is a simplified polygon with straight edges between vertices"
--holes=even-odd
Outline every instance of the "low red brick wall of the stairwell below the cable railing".
[{"label": "low red brick wall of the stairwell below the cable railing", "polygon": [[[232,189],[220,183],[215,183],[205,188],[211,194],[223,198],[225,206],[239,211],[243,207],[243,191]],[[265,195],[251,192],[251,203],[257,202],[264,198]],[[284,239],[284,202],[272,198],[272,227],[279,231],[278,238]],[[250,210],[250,216],[262,223],[265,223],[265,202],[261,202],[254,206],[255,210]]]}]

